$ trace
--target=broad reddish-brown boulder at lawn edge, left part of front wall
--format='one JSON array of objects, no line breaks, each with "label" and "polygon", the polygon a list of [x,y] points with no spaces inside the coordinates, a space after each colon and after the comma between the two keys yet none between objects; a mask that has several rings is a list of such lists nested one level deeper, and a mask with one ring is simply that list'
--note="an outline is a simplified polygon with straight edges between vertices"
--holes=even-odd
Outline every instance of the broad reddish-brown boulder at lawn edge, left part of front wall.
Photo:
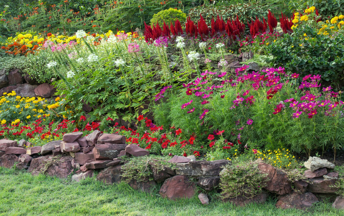
[{"label": "broad reddish-brown boulder at lawn edge, left part of front wall", "polygon": [[32,159],[28,171],[32,175],[43,173],[58,178],[66,178],[74,170],[72,160],[73,158],[70,156],[42,156]]}]

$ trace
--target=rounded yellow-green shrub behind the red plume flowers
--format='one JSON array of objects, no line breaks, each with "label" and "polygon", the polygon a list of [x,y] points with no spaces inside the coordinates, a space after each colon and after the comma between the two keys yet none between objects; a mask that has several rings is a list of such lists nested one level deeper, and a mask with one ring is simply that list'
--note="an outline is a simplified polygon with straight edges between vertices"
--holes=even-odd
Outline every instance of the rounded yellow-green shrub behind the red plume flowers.
[{"label": "rounded yellow-green shrub behind the red plume flowers", "polygon": [[186,14],[183,13],[181,10],[177,10],[174,8],[170,8],[168,10],[162,10],[157,14],[153,15],[153,18],[150,20],[150,25],[156,26],[159,23],[159,26],[162,27],[164,22],[166,25],[170,26],[171,22],[174,26],[174,22],[179,20],[181,25],[186,21]]}]

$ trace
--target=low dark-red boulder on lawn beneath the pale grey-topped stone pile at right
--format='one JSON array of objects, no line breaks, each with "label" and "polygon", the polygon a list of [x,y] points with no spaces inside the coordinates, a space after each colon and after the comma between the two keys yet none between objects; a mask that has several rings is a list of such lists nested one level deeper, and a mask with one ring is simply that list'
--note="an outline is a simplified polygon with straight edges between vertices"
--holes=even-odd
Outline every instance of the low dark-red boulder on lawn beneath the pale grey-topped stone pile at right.
[{"label": "low dark-red boulder on lawn beneath the pale grey-topped stone pile at right", "polygon": [[297,193],[294,191],[290,194],[281,195],[278,198],[276,207],[281,209],[306,209],[310,208],[313,203],[319,201],[311,192]]}]

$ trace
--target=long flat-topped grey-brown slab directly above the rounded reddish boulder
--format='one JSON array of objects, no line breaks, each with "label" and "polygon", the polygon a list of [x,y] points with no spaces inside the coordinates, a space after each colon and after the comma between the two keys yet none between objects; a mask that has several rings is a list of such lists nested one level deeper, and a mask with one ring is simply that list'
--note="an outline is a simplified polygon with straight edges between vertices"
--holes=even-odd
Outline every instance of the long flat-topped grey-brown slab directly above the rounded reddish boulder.
[{"label": "long flat-topped grey-brown slab directly above the rounded reddish boulder", "polygon": [[176,163],[175,174],[191,177],[219,176],[222,167],[228,163],[228,160]]}]

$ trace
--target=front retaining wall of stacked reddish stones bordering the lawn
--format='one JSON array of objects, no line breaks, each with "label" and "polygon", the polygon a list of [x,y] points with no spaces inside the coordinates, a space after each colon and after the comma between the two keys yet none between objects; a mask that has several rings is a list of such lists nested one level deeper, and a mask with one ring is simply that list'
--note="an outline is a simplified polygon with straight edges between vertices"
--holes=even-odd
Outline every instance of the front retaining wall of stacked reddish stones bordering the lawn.
[{"label": "front retaining wall of stacked reddish stones bordering the lawn", "polygon": [[[0,140],[0,166],[17,169],[27,169],[33,175],[44,173],[50,176],[66,178],[72,175],[73,181],[80,181],[93,176],[94,170],[99,171],[97,180],[106,184],[120,183],[122,177],[122,161],[120,156],[141,157],[149,152],[135,144],[125,144],[125,137],[116,134],[102,134],[94,131],[87,136],[82,132],[63,135],[62,140],[56,140],[44,146],[26,148],[30,143],[25,140]],[[152,180],[143,182],[129,181],[133,189],[151,192],[158,184],[162,184],[160,194],[169,199],[191,198],[199,194],[202,204],[209,203],[207,192],[219,189],[222,166],[229,164],[228,160],[197,161],[194,156],[174,156],[168,165],[158,161],[149,161],[147,167],[153,173]],[[334,164],[319,158],[310,158],[305,162],[307,171],[306,181],[290,182],[287,173],[262,161],[258,169],[267,174],[267,186],[264,192],[252,198],[238,196],[223,199],[235,205],[245,206],[248,203],[263,203],[272,194],[278,195],[276,207],[305,209],[313,203],[325,198],[333,200],[333,207],[344,209],[344,197],[335,194],[334,184],[339,174],[331,171]],[[76,170],[76,171],[75,171]],[[199,186],[204,192],[200,192]]]}]

